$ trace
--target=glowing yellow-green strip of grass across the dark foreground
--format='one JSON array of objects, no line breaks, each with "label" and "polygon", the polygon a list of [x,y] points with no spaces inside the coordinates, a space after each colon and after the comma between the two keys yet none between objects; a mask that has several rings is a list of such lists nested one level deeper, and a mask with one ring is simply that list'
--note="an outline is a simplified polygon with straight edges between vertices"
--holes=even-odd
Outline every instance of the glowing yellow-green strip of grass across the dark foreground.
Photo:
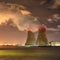
[{"label": "glowing yellow-green strip of grass across the dark foreground", "polygon": [[52,56],[55,55],[53,51],[21,51],[21,50],[0,50],[0,56]]}]

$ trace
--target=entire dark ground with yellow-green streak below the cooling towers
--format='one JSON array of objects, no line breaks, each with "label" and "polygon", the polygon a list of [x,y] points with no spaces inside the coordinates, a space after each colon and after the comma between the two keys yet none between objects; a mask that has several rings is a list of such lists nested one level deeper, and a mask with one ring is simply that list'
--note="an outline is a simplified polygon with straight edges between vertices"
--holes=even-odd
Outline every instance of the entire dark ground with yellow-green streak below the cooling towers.
[{"label": "entire dark ground with yellow-green streak below the cooling towers", "polygon": [[0,48],[0,60],[60,60],[60,47]]}]

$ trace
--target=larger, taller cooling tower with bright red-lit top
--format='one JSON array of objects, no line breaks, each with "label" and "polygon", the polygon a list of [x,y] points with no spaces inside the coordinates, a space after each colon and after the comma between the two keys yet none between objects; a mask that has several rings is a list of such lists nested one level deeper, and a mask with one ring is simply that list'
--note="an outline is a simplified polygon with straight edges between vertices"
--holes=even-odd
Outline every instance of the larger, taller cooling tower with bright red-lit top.
[{"label": "larger, taller cooling tower with bright red-lit top", "polygon": [[45,27],[40,27],[38,30],[38,37],[36,41],[37,46],[48,46],[48,40],[46,37],[46,28]]}]

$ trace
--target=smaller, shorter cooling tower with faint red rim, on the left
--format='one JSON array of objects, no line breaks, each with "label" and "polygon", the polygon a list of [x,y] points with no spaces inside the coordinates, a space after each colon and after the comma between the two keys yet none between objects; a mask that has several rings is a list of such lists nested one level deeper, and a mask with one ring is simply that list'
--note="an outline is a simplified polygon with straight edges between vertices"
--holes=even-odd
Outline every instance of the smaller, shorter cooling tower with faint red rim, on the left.
[{"label": "smaller, shorter cooling tower with faint red rim, on the left", "polygon": [[32,31],[28,31],[27,41],[25,45],[33,46],[35,44],[35,38]]}]

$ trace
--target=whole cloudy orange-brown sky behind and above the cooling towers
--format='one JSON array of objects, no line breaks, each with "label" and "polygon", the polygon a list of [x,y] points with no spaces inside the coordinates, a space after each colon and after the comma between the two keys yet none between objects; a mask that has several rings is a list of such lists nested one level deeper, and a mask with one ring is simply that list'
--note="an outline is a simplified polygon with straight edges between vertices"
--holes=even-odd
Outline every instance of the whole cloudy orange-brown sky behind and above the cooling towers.
[{"label": "whole cloudy orange-brown sky behind and above the cooling towers", "polygon": [[[15,27],[7,27],[10,19]],[[0,0],[1,43],[24,44],[27,28],[37,36],[41,24],[47,28],[49,41],[60,41],[60,0]]]}]

